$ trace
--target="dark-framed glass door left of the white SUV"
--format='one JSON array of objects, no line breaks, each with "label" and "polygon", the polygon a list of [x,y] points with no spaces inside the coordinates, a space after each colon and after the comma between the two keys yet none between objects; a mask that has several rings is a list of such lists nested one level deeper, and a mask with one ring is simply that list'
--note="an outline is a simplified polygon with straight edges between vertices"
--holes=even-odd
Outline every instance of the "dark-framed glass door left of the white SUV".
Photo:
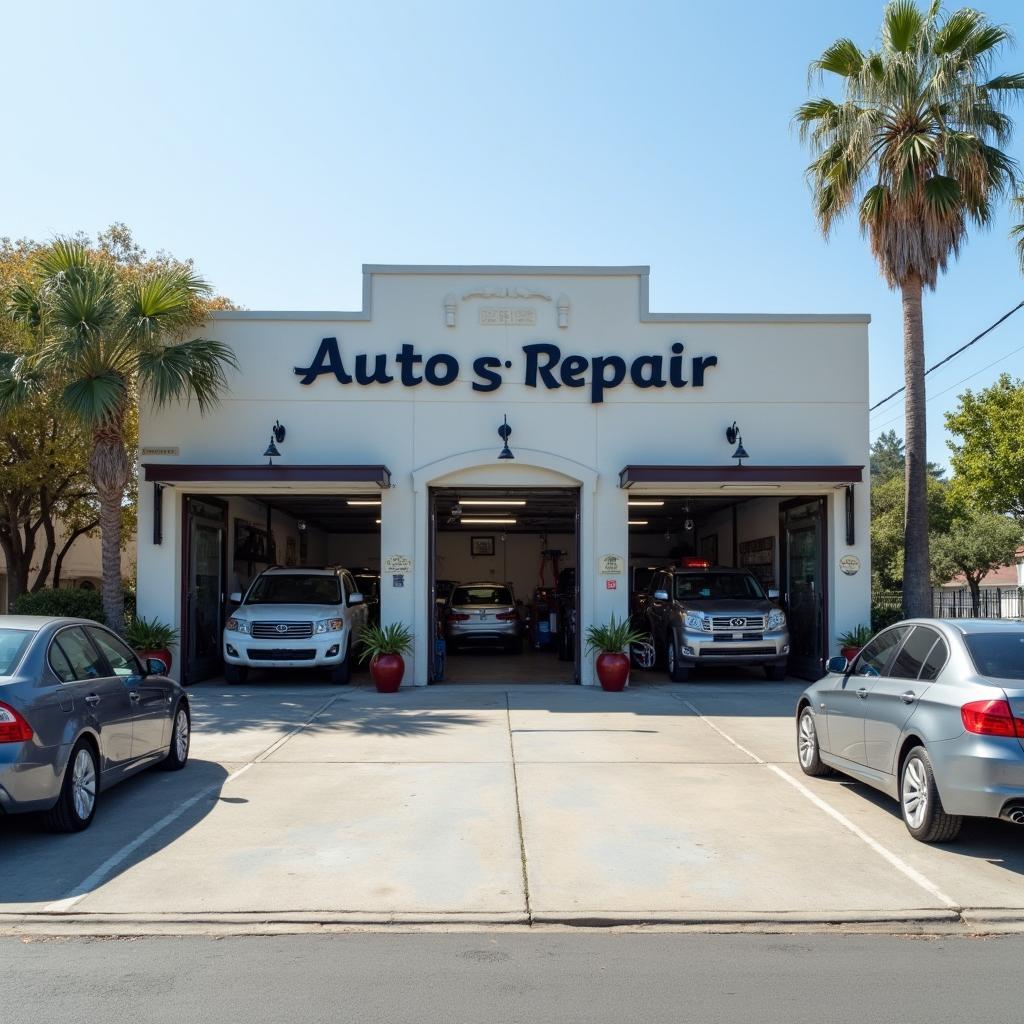
[{"label": "dark-framed glass door left of the white SUV", "polygon": [[223,633],[226,507],[185,499],[185,673],[190,683],[220,674]]}]

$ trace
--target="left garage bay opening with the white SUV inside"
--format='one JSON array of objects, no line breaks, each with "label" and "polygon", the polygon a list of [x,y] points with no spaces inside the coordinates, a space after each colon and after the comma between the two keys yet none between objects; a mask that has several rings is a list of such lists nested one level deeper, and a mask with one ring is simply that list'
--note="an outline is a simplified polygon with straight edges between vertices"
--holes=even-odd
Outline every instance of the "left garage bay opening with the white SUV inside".
[{"label": "left garage bay opening with the white SUV inside", "polygon": [[[237,681],[250,674],[267,682],[282,674],[310,681],[337,676],[343,648],[356,639],[352,623],[359,628],[380,621],[380,494],[283,488],[186,495],[183,501],[183,680],[217,678],[225,669]],[[271,585],[272,575],[287,579]],[[260,614],[236,615],[240,598],[261,577]],[[239,621],[244,632],[225,634]],[[332,631],[344,643],[331,644]],[[225,666],[228,644],[234,664]]]}]

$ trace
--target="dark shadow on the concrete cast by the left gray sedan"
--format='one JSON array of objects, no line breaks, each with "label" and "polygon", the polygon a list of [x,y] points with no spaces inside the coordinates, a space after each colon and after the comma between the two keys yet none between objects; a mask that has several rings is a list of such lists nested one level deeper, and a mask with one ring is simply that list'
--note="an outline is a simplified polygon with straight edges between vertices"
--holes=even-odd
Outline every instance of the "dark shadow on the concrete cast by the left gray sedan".
[{"label": "dark shadow on the concrete cast by the left gray sedan", "polygon": [[[213,810],[227,774],[222,765],[197,760],[179,772],[142,772],[100,794],[92,824],[70,836],[44,831],[35,814],[0,817],[0,909],[65,899],[103,865],[109,870],[99,883],[160,853]],[[184,804],[178,816],[128,849]]]}]

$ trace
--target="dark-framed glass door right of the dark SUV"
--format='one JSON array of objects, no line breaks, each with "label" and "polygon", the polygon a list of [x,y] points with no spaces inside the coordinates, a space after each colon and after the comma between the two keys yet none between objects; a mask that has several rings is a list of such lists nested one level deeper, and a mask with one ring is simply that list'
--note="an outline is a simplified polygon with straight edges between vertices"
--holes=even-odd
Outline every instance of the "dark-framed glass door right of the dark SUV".
[{"label": "dark-framed glass door right of the dark SUV", "polygon": [[825,499],[798,499],[779,506],[782,600],[790,624],[790,672],[803,679],[824,674]]}]

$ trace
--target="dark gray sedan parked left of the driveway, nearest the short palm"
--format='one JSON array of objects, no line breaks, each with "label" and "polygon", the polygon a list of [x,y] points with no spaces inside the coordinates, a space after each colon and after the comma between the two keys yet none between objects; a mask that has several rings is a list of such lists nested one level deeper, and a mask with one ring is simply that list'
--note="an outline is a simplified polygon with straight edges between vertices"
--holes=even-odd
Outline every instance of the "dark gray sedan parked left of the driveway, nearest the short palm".
[{"label": "dark gray sedan parked left of the driveway, nearest the short palm", "polygon": [[188,698],[164,671],[96,623],[0,615],[0,814],[80,831],[103,790],[184,768]]}]

